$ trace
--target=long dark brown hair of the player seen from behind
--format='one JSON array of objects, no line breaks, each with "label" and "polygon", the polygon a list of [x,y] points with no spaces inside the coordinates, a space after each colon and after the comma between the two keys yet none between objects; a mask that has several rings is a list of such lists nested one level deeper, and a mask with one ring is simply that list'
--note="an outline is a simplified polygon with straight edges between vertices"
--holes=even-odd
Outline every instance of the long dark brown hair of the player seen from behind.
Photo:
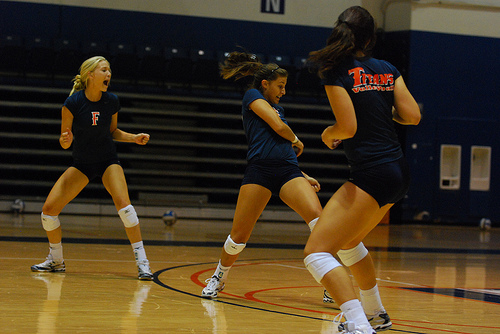
[{"label": "long dark brown hair of the player seen from behind", "polygon": [[355,55],[357,51],[369,55],[375,41],[373,17],[363,7],[353,6],[339,15],[326,46],[321,50],[310,52],[307,61],[323,78],[326,71],[335,68],[342,60]]}]

